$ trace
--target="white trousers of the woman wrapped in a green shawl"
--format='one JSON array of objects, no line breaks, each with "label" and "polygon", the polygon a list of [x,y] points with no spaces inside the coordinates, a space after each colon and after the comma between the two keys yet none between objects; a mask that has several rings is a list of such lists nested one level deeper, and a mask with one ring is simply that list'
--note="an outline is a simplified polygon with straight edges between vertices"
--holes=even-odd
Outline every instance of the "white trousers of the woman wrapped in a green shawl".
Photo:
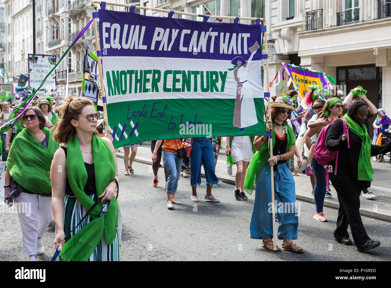
[{"label": "white trousers of the woman wrapped in a green shawl", "polygon": [[37,238],[45,236],[52,213],[52,197],[20,193],[14,198],[22,227],[23,255],[37,254]]}]

